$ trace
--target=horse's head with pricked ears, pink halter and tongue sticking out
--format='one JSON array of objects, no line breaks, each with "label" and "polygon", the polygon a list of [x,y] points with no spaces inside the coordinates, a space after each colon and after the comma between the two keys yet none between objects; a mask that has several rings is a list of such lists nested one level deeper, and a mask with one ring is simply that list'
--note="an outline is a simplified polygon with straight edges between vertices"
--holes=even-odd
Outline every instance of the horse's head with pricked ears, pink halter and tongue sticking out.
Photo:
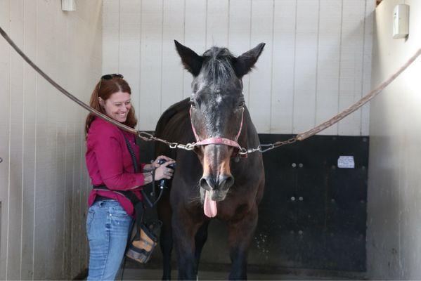
[{"label": "horse's head with pricked ears, pink halter and tongue sticking out", "polygon": [[226,198],[234,183],[230,159],[238,150],[245,111],[242,77],[257,62],[264,43],[238,57],[227,48],[212,47],[197,55],[178,41],[175,44],[184,67],[193,74],[190,120],[201,144],[196,150],[203,166],[200,198],[205,214],[212,217],[216,202]]}]

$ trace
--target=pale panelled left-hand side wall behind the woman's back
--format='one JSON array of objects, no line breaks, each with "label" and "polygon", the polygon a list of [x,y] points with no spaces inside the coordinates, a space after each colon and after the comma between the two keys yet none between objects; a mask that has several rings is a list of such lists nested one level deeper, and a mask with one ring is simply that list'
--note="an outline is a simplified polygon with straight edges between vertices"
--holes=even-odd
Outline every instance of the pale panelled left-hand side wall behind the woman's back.
[{"label": "pale panelled left-hand side wall behind the woman's back", "polygon": [[[58,84],[89,101],[101,76],[102,1],[1,0],[0,26]],[[0,280],[72,279],[87,266],[86,111],[0,38]]]}]

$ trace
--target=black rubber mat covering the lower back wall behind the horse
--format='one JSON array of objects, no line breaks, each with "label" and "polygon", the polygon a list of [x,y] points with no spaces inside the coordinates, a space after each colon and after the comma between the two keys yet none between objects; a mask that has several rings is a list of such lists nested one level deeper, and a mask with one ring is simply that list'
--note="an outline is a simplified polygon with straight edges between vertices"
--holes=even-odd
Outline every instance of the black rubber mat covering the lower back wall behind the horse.
[{"label": "black rubber mat covering the lower back wall behind the horse", "polygon": [[[259,137],[273,143],[292,135]],[[250,266],[365,271],[368,142],[366,136],[313,136],[264,153],[266,186]],[[153,158],[153,148],[141,143],[143,162]],[[210,224],[201,263],[230,263],[224,223]]]}]

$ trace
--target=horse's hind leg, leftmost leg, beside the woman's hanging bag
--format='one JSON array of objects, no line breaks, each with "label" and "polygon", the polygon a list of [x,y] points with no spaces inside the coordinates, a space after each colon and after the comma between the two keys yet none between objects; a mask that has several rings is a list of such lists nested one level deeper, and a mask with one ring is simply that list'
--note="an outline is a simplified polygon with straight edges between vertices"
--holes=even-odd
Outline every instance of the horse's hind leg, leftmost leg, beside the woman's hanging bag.
[{"label": "horse's hind leg, leftmost leg, beside the woman's hanging bag", "polygon": [[171,280],[171,251],[172,251],[172,230],[171,230],[171,207],[169,206],[169,191],[164,190],[162,199],[157,204],[158,218],[162,221],[160,233],[160,246],[162,252],[162,280]]}]

